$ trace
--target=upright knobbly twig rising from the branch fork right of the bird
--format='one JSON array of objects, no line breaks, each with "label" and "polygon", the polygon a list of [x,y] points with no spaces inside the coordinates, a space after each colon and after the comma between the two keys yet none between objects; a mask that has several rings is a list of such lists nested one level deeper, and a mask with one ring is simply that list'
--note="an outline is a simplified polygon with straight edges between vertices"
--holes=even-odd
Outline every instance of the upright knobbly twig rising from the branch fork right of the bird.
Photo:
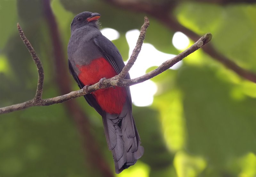
[{"label": "upright knobbly twig rising from the branch fork right of the bird", "polygon": [[124,66],[123,70],[118,74],[118,76],[117,76],[118,79],[124,79],[124,77],[128,74],[128,72],[132,68],[132,65],[136,61],[136,59],[140,53],[141,46],[143,44],[143,40],[145,39],[145,34],[146,34],[148,26],[149,26],[149,20],[148,20],[148,17],[145,16],[144,24],[141,26],[140,35],[137,40],[136,46],[133,49],[132,55],[131,55],[130,59],[128,60],[127,64]]}]

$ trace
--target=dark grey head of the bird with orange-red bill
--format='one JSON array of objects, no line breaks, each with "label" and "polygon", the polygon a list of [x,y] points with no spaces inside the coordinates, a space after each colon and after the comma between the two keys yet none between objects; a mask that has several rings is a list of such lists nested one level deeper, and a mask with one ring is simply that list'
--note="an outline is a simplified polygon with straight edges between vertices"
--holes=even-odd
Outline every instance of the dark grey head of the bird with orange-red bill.
[{"label": "dark grey head of the bird with orange-red bill", "polygon": [[82,12],[76,15],[71,22],[71,32],[82,26],[94,26],[98,28],[100,14],[92,12]]}]

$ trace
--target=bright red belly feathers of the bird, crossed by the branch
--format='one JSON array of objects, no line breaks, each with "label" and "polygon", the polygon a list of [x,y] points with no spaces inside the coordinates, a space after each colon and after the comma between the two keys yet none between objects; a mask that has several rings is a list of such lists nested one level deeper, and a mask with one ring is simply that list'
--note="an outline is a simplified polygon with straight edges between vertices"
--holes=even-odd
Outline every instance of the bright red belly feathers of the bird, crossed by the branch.
[{"label": "bright red belly feathers of the bird, crossed by the branch", "polygon": [[[78,78],[84,85],[92,85],[103,77],[108,79],[117,75],[115,69],[103,57],[92,60],[89,65],[76,67],[80,71]],[[110,114],[120,114],[126,99],[124,87],[103,88],[96,90],[92,95],[101,109]]]}]

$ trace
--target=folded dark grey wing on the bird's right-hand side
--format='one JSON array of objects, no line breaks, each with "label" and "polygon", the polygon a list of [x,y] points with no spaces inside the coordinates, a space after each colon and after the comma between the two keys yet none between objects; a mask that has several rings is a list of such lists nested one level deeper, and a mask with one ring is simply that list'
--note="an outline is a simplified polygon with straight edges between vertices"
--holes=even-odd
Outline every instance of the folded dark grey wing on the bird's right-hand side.
[{"label": "folded dark grey wing on the bird's right-hand side", "polygon": [[[121,54],[117,50],[116,46],[105,36],[98,35],[93,39],[95,45],[100,49],[104,58],[108,60],[112,67],[114,67],[117,74],[119,74],[124,68],[124,61]],[[125,76],[125,79],[130,79],[129,73]],[[125,87],[127,95],[129,97],[129,103],[132,108],[132,98],[129,87]]]}]

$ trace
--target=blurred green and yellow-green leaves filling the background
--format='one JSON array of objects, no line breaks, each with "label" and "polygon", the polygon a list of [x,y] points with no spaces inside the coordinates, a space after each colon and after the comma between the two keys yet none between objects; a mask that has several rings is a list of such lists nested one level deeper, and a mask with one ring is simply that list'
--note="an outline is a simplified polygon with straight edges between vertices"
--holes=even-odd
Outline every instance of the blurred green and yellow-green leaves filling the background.
[{"label": "blurred green and yellow-green leaves filling the background", "polygon": [[[79,12],[93,11],[101,14],[102,28],[120,33],[113,42],[124,58],[129,50],[125,33],[140,29],[145,15],[101,0],[52,0],[51,6],[65,51],[72,18]],[[223,6],[188,1],[177,4],[173,13],[186,28],[200,35],[211,32],[211,42],[220,53],[256,72],[255,4]],[[177,54],[172,45],[174,31],[153,17],[149,20],[145,42],[159,51]],[[20,40],[17,22],[44,65],[43,97],[59,95],[42,1],[2,0],[1,107],[31,99],[36,89],[36,67]],[[179,69],[167,70],[152,81],[158,86],[153,104],[133,108],[145,153],[136,165],[118,176],[256,176],[255,83],[244,81],[202,50],[188,56]],[[76,83],[72,84],[76,90]],[[100,116],[84,98],[76,100],[89,115],[91,132],[114,173]],[[89,166],[86,156],[90,152],[85,158],[84,153],[76,126],[63,104],[0,115],[1,177],[100,175],[97,166]]]}]

